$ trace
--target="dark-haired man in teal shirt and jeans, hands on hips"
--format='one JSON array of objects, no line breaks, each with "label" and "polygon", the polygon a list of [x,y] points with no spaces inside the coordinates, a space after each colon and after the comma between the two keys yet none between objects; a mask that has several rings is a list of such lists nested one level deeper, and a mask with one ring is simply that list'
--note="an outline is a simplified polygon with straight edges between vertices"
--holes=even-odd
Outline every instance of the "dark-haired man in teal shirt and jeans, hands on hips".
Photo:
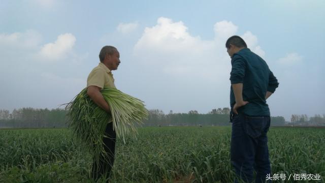
[{"label": "dark-haired man in teal shirt and jeans, hands on hips", "polygon": [[252,182],[255,169],[255,182],[265,182],[271,174],[267,144],[270,110],[266,100],[279,83],[267,63],[250,51],[241,37],[230,37],[225,47],[232,58],[231,163],[237,178]]}]

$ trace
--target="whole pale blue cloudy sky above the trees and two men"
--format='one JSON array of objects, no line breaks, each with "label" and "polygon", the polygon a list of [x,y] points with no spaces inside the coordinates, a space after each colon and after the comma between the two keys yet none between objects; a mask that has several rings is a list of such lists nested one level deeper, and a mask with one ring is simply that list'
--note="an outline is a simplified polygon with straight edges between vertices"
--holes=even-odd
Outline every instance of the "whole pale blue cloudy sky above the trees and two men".
[{"label": "whole pale blue cloudy sky above the trees and two men", "polygon": [[325,114],[325,1],[2,1],[0,109],[57,108],[86,86],[105,45],[122,92],[165,113],[229,107],[244,38],[279,80],[272,116]]}]

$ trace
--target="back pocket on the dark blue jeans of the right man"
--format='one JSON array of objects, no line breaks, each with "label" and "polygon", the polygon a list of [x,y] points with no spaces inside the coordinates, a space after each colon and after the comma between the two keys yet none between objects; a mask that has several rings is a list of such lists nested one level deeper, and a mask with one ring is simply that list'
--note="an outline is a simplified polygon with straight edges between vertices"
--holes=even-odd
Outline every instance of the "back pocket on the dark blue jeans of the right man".
[{"label": "back pocket on the dark blue jeans of the right man", "polygon": [[252,138],[262,135],[264,129],[264,117],[245,116],[246,134]]}]

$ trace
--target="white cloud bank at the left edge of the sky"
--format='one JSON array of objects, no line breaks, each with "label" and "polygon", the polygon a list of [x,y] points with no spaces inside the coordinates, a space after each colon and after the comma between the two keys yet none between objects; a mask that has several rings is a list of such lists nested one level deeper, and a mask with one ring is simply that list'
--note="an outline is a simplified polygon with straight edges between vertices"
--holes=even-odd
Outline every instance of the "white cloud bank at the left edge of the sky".
[{"label": "white cloud bank at the left edge of the sky", "polygon": [[[57,60],[73,55],[76,38],[72,34],[61,34],[53,43],[42,45],[43,36],[35,30],[16,33],[0,33],[0,55],[8,62],[26,60]],[[79,57],[78,57],[79,59]]]}]

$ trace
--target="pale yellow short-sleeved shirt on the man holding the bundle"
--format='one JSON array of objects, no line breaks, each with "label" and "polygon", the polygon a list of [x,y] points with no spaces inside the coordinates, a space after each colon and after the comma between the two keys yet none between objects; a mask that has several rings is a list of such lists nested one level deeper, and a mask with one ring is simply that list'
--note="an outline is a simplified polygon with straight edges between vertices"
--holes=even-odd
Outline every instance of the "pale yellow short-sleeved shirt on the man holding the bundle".
[{"label": "pale yellow short-sleeved shirt on the man holding the bundle", "polygon": [[104,86],[116,88],[111,70],[103,63],[100,63],[89,73],[87,78],[87,87],[88,86],[98,86],[102,89]]}]

